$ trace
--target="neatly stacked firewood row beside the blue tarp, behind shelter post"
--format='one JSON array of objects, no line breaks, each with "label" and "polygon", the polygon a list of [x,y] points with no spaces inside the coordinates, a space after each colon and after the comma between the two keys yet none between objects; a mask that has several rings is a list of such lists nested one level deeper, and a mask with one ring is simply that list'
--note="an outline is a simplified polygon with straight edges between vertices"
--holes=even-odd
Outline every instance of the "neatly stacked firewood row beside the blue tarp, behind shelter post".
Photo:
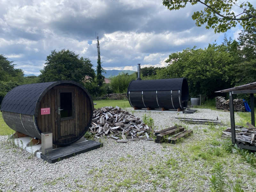
[{"label": "neatly stacked firewood row beside the blue tarp, behind shelter post", "polygon": [[[215,101],[217,109],[229,110],[229,100],[225,100],[224,97],[215,97]],[[234,110],[245,111],[243,99],[234,99]]]}]

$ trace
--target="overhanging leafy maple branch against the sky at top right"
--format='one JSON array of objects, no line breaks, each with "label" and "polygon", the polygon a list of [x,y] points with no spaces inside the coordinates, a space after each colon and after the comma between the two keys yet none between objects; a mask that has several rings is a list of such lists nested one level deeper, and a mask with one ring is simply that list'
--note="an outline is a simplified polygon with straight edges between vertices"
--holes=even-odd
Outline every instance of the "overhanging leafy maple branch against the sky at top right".
[{"label": "overhanging leafy maple branch against the sky at top right", "polygon": [[[256,10],[251,3],[239,3],[239,0],[163,0],[164,6],[169,10],[179,10],[187,4],[203,4],[204,10],[196,11],[192,19],[196,20],[196,26],[201,27],[206,23],[205,28],[213,28],[214,32],[226,32],[237,23],[244,29],[256,26]],[[238,7],[241,11],[236,14],[233,8]]]}]

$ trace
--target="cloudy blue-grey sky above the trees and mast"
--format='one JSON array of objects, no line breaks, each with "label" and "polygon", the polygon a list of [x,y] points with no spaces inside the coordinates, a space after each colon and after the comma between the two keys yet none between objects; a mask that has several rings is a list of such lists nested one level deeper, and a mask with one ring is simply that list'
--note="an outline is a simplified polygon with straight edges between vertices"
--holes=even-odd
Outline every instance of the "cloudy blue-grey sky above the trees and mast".
[{"label": "cloudy blue-grey sky above the trees and mast", "polygon": [[[207,47],[224,34],[196,27],[202,5],[169,11],[161,0],[0,0],[0,54],[24,74],[39,75],[52,50],[69,49],[105,70],[165,67],[173,52]],[[236,39],[241,27],[228,30]]]}]

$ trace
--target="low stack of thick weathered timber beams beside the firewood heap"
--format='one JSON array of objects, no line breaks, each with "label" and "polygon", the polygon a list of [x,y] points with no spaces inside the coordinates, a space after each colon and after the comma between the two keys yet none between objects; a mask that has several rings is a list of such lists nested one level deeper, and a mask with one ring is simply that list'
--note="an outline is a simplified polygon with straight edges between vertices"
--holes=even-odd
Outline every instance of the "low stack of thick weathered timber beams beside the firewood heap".
[{"label": "low stack of thick weathered timber beams beside the firewood heap", "polygon": [[192,132],[193,132],[192,130],[184,130],[184,127],[181,127],[180,125],[169,127],[167,129],[163,129],[161,131],[155,132],[155,136],[156,136],[155,142],[156,143],[166,142],[166,143],[175,144],[180,140],[180,138],[186,138]]}]

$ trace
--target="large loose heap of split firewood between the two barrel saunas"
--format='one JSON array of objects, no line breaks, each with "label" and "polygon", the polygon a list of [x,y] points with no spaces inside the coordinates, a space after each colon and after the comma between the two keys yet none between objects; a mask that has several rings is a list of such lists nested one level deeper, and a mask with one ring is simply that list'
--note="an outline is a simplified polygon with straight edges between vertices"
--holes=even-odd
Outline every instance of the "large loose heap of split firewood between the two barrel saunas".
[{"label": "large loose heap of split firewood between the two barrel saunas", "polygon": [[118,106],[94,109],[89,131],[96,138],[107,136],[122,143],[146,138],[153,140],[150,137],[152,129],[148,125]]}]

